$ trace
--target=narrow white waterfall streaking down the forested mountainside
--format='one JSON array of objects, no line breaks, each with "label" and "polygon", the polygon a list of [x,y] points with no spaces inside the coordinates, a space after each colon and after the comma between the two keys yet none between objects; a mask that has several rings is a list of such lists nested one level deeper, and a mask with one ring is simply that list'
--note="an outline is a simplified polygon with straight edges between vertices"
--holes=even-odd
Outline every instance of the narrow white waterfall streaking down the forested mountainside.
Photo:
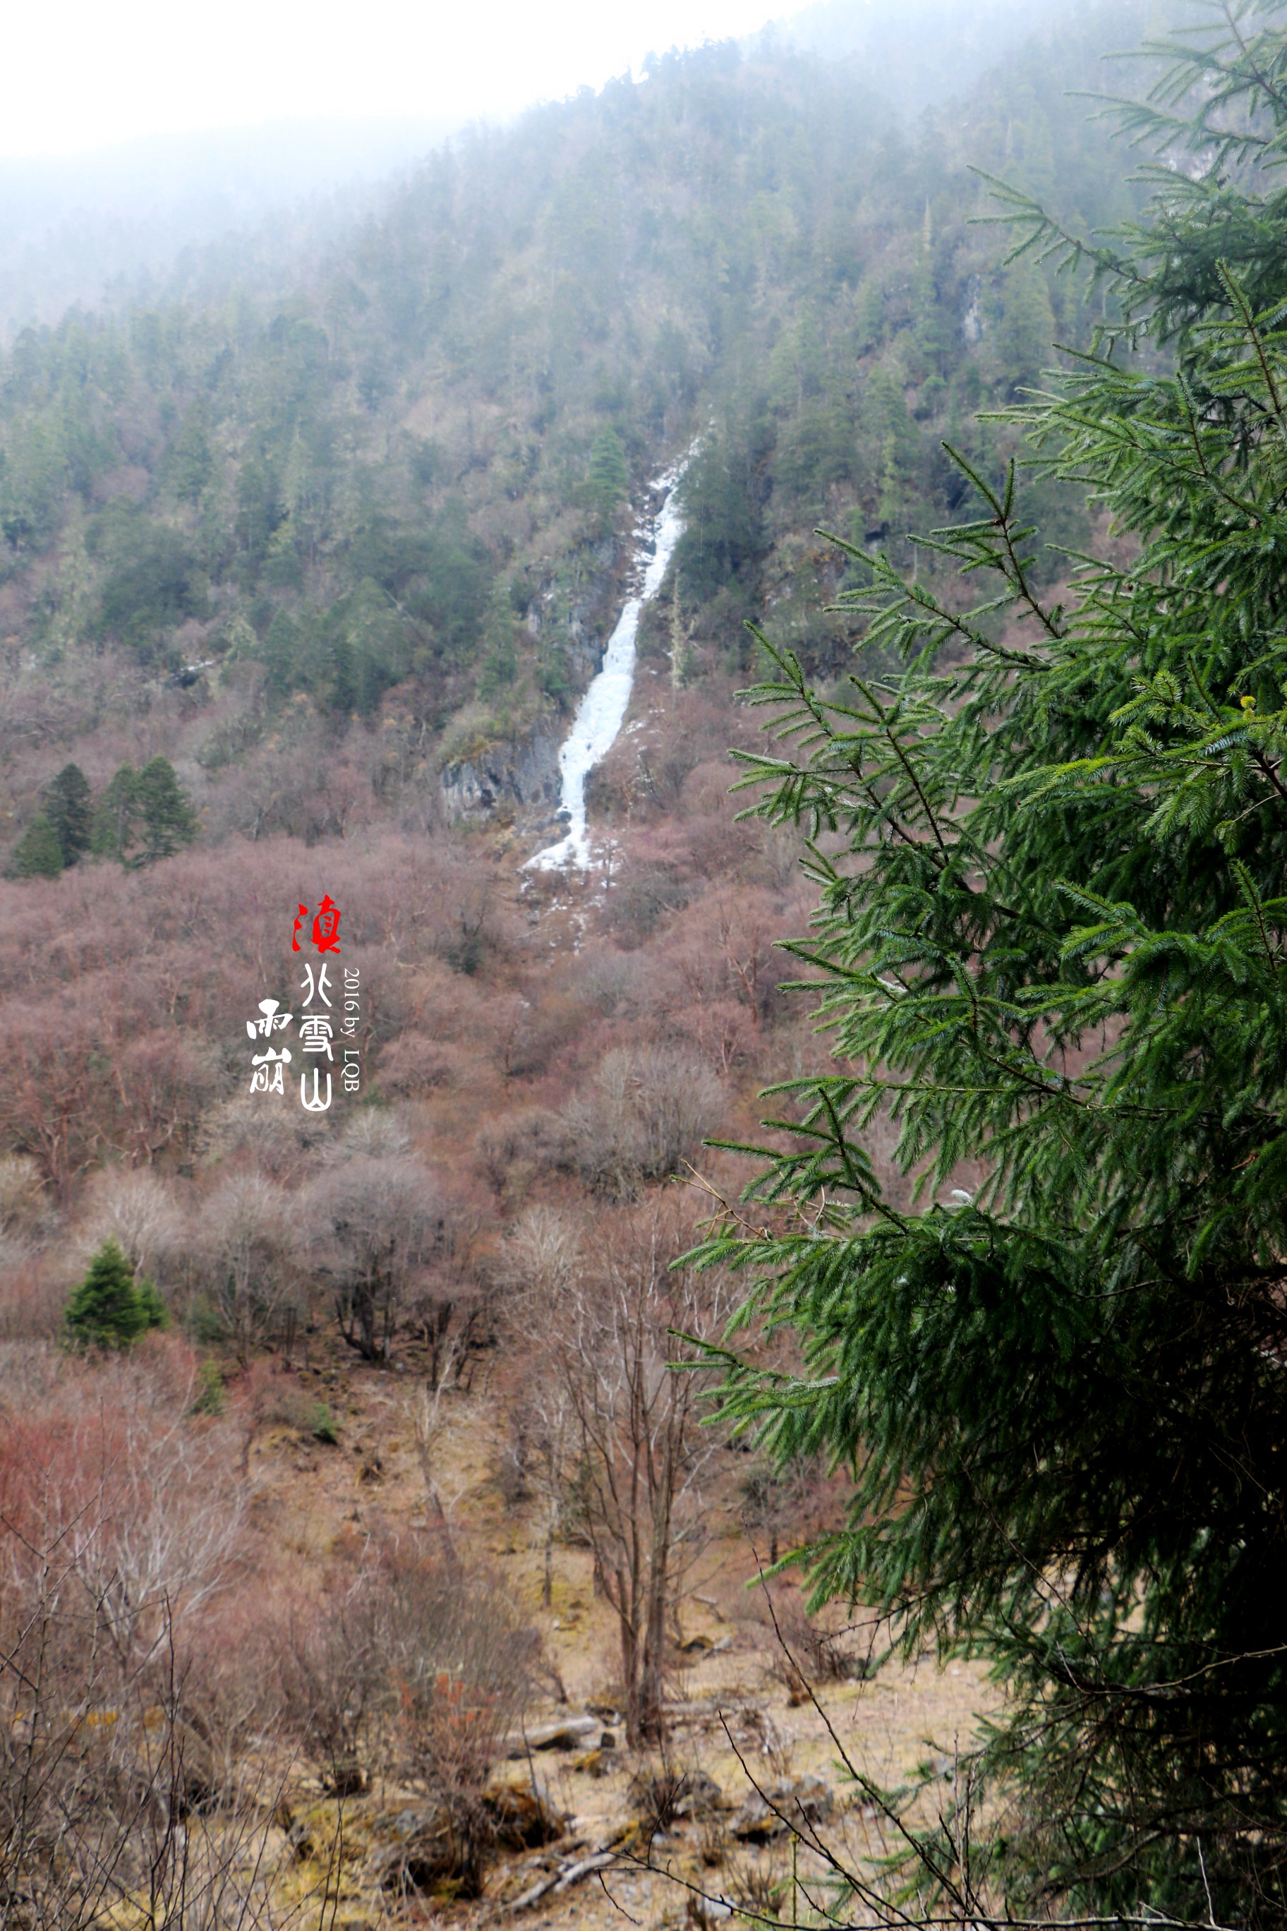
[{"label": "narrow white waterfall streaking down the forested mountainside", "polygon": [[529,857],[523,867],[525,871],[560,871],[567,865],[587,871],[590,865],[590,834],[585,821],[585,780],[594,765],[608,755],[616,743],[621,724],[625,722],[625,711],[635,686],[635,637],[639,635],[639,616],[643,606],[660,591],[670,560],[675,554],[675,545],[683,533],[679,506],[675,504],[675,489],[679,487],[685,467],[687,456],[683,462],[675,463],[673,469],[668,469],[666,475],[660,475],[652,485],[654,490],[662,490],[662,508],[656,518],[648,523],[641,523],[635,531],[635,568],[639,568],[639,562],[646,554],[646,545],[652,541],[652,556],[644,566],[639,595],[627,599],[625,608],[617,618],[617,628],[608,639],[604,668],[590,680],[585,697],[577,705],[571,730],[560,749],[560,821],[567,825],[567,836],[560,838],[554,846],[546,846],[544,852],[536,852],[534,857]]}]

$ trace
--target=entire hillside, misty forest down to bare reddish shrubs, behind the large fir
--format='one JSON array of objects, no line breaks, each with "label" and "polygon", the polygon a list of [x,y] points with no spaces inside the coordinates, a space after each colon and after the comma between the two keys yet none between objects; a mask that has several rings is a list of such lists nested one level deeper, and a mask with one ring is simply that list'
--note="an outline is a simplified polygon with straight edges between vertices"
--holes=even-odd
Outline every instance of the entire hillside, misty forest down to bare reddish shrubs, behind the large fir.
[{"label": "entire hillside, misty forest down to bare reddish shrubs, behind the large fir", "polygon": [[[737,1303],[710,1215],[781,1226],[735,1205],[737,1147],[787,1145],[760,1089],[830,1052],[778,950],[826,859],[789,798],[739,817],[729,751],[747,620],[826,703],[851,593],[947,581],[907,535],[974,514],[944,444],[1003,471],[1052,342],[1119,319],[976,218],[988,176],[1073,241],[1138,210],[1075,91],[1154,12],[1069,10],[924,116],[864,58],[671,54],[0,357],[6,1923],[801,1925],[907,1829],[940,1856],[909,1792],[957,1802],[1001,1692],[766,1580],[866,1444],[770,1452],[697,1352]],[[594,863],[523,871],[685,458]],[[1077,475],[1023,500],[1034,610],[1104,523]],[[903,1228],[899,1130],[859,1164]],[[805,1342],[756,1346],[783,1386]]]}]

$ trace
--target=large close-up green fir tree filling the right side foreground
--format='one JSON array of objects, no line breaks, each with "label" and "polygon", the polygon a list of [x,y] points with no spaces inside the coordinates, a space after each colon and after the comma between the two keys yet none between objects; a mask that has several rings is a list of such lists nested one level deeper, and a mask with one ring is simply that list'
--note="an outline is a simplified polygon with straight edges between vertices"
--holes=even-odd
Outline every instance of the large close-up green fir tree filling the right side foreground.
[{"label": "large close-up green fir tree filling the right side foreground", "polygon": [[[853,1473],[818,1599],[1007,1690],[938,1825],[891,1804],[899,1902],[835,1869],[890,1923],[1287,1917],[1287,31],[1208,17],[1123,110],[1189,145],[1142,226],[1090,245],[1003,189],[1019,253],[1119,315],[1007,419],[1133,564],[1063,558],[1044,602],[1013,467],[971,471],[930,546],[992,595],[882,560],[845,608],[901,672],[830,701],[778,653],[753,693],[795,740],[756,809],[828,834],[789,950],[841,1064],[776,1089],[762,1230],[704,1249],[754,1282],[724,1408]],[[778,1327],[799,1379],[745,1340]]]}]

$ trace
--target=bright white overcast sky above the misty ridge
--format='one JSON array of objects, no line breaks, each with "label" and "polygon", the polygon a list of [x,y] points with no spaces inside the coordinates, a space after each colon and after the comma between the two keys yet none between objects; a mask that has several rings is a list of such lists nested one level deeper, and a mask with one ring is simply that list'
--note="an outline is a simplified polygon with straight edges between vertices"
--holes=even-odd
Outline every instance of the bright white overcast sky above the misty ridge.
[{"label": "bright white overcast sky above the misty ridge", "polygon": [[46,0],[4,14],[0,156],[330,116],[507,116],[799,0]]}]

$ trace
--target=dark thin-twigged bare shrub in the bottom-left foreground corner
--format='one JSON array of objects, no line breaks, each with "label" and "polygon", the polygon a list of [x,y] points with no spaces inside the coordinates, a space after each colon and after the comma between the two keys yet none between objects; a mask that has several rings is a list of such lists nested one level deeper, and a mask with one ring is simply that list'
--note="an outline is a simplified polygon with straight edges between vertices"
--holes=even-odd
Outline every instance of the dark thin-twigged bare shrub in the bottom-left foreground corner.
[{"label": "dark thin-twigged bare shrub in the bottom-left foreground corner", "polygon": [[[96,1605],[48,1560],[39,1591],[0,1616],[0,1916],[12,1931],[251,1931],[315,1921],[316,1900],[276,1892],[264,1713],[233,1738],[203,1724],[176,1620],[145,1665],[112,1639]],[[241,1711],[255,1686],[222,1692]],[[197,1719],[197,1721],[195,1721]],[[239,1748],[226,1749],[226,1744]]]}]

